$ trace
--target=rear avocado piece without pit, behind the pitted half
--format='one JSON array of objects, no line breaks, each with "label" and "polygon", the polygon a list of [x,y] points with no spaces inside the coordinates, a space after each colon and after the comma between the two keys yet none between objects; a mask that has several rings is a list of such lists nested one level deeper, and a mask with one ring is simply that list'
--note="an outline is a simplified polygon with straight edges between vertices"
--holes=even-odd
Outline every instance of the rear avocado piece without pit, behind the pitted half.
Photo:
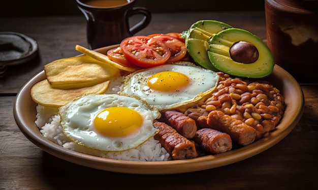
[{"label": "rear avocado piece without pit, behind the pitted half", "polygon": [[185,33],[185,45],[196,64],[217,71],[208,57],[209,41],[218,32],[229,28],[232,26],[216,20],[199,20],[190,26]]}]

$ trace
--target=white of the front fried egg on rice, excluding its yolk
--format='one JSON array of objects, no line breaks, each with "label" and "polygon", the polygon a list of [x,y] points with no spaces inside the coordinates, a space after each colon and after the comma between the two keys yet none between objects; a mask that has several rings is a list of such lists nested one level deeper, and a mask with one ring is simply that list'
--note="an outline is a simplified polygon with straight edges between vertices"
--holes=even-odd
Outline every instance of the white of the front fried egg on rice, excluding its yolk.
[{"label": "white of the front fried egg on rice, excluding its yolk", "polygon": [[[106,137],[94,129],[94,117],[107,107],[122,106],[137,111],[143,118],[140,129],[128,137]],[[102,151],[123,151],[135,148],[157,132],[152,125],[160,116],[136,98],[117,94],[90,94],[76,98],[59,107],[63,132],[74,142]],[[123,118],[129,119],[129,118]]]}]

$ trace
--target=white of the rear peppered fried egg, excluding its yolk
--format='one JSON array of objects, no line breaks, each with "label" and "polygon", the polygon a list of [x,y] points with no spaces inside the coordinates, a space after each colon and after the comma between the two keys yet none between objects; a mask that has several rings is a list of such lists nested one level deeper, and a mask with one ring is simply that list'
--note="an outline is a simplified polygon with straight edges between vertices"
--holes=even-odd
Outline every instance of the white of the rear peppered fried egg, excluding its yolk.
[{"label": "white of the rear peppered fried egg, excluding its yolk", "polygon": [[[162,71],[180,72],[188,76],[190,82],[185,89],[180,91],[164,92],[149,88],[147,86],[148,78],[154,73]],[[218,75],[214,71],[195,66],[189,62],[180,62],[143,69],[130,74],[125,78],[119,94],[140,97],[162,111],[204,98],[214,90],[217,82]]]}]

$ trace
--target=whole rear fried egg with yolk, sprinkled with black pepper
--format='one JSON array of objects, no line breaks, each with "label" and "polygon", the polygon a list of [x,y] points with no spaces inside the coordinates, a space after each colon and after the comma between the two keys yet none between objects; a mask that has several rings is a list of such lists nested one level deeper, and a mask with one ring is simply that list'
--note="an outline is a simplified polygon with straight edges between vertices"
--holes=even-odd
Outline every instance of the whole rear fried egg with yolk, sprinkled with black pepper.
[{"label": "whole rear fried egg with yolk, sprinkled with black pepper", "polygon": [[119,94],[140,97],[163,111],[202,100],[214,90],[217,82],[218,75],[214,71],[180,62],[130,74]]}]

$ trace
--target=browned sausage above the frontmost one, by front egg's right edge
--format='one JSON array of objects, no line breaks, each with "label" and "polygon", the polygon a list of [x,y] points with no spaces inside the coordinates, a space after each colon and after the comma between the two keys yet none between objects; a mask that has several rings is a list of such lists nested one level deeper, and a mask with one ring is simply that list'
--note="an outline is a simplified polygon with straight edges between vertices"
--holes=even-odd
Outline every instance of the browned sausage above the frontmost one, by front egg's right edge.
[{"label": "browned sausage above the frontmost one, by front egg's right edge", "polygon": [[181,112],[166,111],[160,121],[167,123],[187,139],[193,139],[196,135],[196,121]]}]

